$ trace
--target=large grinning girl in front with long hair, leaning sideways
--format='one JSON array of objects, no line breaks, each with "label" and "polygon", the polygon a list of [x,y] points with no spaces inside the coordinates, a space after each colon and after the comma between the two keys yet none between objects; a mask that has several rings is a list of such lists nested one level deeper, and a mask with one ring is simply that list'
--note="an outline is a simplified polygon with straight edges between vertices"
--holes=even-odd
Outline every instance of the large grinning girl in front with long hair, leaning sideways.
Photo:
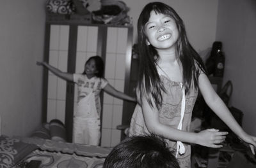
[{"label": "large grinning girl in front with long hair, leaning sideways", "polygon": [[[175,150],[180,167],[190,167],[189,143],[222,147],[228,132],[216,129],[189,132],[191,113],[200,91],[207,105],[251,149],[256,137],[244,132],[216,94],[200,56],[190,45],[182,19],[170,6],[155,2],[143,8],[138,19],[140,78],[138,105],[129,136],[154,133]],[[252,146],[253,145],[253,146]],[[253,151],[254,152],[254,151]]]}]

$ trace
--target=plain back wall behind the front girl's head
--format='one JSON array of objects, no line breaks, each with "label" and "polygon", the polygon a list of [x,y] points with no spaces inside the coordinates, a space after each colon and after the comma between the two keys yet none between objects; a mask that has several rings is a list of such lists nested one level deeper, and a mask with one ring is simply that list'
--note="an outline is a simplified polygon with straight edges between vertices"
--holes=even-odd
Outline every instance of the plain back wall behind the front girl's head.
[{"label": "plain back wall behind the front girl's head", "polygon": [[[137,41],[137,22],[145,4],[154,0],[123,0],[128,7],[129,16],[134,25],[134,43]],[[191,45],[197,52],[203,54],[208,51],[215,41],[218,0],[161,0],[169,4],[180,15],[188,34]]]}]

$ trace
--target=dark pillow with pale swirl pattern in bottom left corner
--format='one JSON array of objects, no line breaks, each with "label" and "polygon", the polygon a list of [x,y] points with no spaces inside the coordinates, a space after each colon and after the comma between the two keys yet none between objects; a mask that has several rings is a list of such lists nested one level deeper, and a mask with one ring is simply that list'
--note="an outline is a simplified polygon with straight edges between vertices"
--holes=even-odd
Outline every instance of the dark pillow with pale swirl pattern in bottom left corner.
[{"label": "dark pillow with pale swirl pattern in bottom left corner", "polygon": [[0,167],[12,167],[37,148],[35,144],[23,143],[19,139],[8,136],[0,136]]}]

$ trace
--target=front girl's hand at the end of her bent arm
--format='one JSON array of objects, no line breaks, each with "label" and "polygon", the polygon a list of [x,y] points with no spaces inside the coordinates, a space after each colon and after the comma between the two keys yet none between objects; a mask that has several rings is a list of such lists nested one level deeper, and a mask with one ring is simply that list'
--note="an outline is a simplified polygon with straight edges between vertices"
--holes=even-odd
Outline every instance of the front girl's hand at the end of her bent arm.
[{"label": "front girl's hand at the end of her bent arm", "polygon": [[225,141],[227,134],[228,132],[220,132],[217,129],[202,130],[198,132],[196,143],[210,148],[221,148],[223,145],[220,143]]}]

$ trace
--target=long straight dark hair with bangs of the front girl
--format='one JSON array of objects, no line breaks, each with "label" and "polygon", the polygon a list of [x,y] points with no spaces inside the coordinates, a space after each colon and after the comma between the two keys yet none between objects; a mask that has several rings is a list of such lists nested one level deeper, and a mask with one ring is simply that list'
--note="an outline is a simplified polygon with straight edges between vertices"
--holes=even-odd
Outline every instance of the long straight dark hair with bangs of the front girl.
[{"label": "long straight dark hair with bangs of the front girl", "polygon": [[140,55],[140,78],[137,86],[138,102],[141,104],[141,97],[144,96],[150,106],[156,106],[157,109],[162,105],[162,94],[164,91],[163,83],[160,80],[160,76],[157,73],[156,62],[159,59],[157,50],[152,45],[146,45],[147,36],[145,35],[145,24],[150,18],[150,12],[162,13],[168,15],[175,20],[177,28],[179,30],[179,38],[177,39],[177,60],[180,60],[183,68],[183,83],[186,93],[188,93],[191,85],[198,88],[198,76],[202,70],[204,73],[204,62],[190,45],[186,36],[186,29],[182,19],[173,10],[172,7],[160,3],[148,3],[141,11],[138,19],[138,48]]}]

